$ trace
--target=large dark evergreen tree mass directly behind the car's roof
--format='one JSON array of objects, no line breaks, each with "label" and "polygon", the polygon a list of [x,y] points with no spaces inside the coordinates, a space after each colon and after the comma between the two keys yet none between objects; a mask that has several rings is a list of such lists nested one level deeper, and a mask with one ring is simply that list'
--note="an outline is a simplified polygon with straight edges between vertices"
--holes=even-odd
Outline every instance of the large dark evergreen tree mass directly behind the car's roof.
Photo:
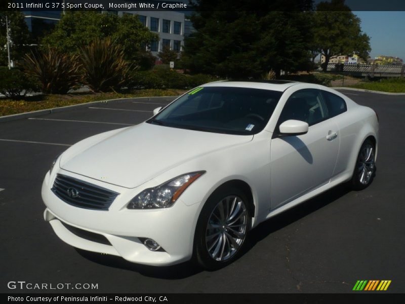
[{"label": "large dark evergreen tree mass directly behind the car's roof", "polygon": [[223,0],[208,10],[209,3],[196,2],[197,32],[185,41],[183,62],[193,72],[240,79],[308,66],[310,25],[301,9],[310,1]]}]

